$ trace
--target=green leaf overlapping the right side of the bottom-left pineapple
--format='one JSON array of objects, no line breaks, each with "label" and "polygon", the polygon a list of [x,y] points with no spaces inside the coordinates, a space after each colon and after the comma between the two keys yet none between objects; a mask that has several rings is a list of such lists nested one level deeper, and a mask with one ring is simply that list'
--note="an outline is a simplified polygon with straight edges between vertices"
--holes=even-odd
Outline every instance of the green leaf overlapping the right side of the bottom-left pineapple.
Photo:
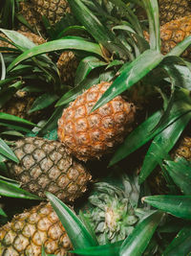
[{"label": "green leaf overlapping the right side of the bottom-left pineapple", "polygon": [[97,241],[92,237],[86,226],[80,221],[74,212],[60,199],[47,192],[47,198],[51,201],[53,209],[62,222],[66,232],[74,245],[74,249],[96,246]]}]

